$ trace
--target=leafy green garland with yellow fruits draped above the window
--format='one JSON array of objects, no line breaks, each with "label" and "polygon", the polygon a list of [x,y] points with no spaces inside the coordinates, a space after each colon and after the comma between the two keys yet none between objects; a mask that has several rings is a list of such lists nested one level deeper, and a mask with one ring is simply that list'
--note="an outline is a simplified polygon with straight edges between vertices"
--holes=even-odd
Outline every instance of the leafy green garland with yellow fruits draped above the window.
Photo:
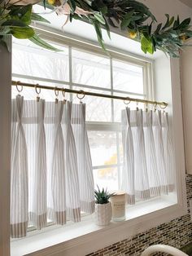
[{"label": "leafy green garland with yellow fruits draped above the window", "polygon": [[136,0],[0,0],[0,43],[6,45],[4,37],[29,39],[38,46],[58,51],[38,37],[30,26],[33,21],[49,23],[33,12],[33,4],[39,2],[45,8],[55,9],[58,15],[68,15],[68,20],[86,20],[94,25],[98,42],[105,50],[102,28],[110,37],[110,26],[128,33],[128,37],[141,42],[142,51],[153,54],[157,49],[177,57],[192,38],[190,18],[180,21],[166,14],[165,24],[157,24],[155,15],[148,7]]}]

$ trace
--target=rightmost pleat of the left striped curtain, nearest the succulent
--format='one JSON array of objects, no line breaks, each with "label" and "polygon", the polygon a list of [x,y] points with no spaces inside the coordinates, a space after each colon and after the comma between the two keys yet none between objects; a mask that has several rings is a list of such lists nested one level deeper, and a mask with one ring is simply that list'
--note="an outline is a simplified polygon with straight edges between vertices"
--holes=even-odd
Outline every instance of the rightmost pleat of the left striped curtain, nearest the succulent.
[{"label": "rightmost pleat of the left striped curtain, nearest the succulent", "polygon": [[94,176],[85,127],[85,104],[72,105],[72,130],[76,142],[77,170],[80,184],[81,210],[94,212]]}]

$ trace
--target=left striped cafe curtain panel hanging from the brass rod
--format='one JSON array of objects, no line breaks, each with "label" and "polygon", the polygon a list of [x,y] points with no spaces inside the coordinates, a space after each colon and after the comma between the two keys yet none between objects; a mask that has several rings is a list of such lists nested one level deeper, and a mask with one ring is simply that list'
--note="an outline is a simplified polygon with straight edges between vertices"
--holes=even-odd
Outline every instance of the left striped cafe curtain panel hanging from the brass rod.
[{"label": "left striped cafe curtain panel hanging from the brass rod", "polygon": [[11,236],[94,212],[85,104],[12,100]]}]

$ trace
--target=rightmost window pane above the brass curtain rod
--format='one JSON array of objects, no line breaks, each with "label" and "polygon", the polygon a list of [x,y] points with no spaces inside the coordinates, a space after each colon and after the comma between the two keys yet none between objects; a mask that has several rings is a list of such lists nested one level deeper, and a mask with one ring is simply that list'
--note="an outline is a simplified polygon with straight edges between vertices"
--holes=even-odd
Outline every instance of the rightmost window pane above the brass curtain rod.
[{"label": "rightmost window pane above the brass curtain rod", "polygon": [[121,62],[112,61],[113,88],[143,94],[142,67]]}]

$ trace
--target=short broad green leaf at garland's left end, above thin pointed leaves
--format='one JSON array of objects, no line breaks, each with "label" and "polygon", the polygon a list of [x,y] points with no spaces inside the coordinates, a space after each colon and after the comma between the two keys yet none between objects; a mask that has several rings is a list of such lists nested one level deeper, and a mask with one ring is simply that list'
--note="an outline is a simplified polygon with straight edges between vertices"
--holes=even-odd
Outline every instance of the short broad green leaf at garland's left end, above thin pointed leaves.
[{"label": "short broad green leaf at garland's left end, above thin pointed leaves", "polygon": [[32,38],[35,33],[34,30],[30,27],[24,27],[24,28],[10,27],[10,31],[15,38],[19,38],[19,39]]}]

